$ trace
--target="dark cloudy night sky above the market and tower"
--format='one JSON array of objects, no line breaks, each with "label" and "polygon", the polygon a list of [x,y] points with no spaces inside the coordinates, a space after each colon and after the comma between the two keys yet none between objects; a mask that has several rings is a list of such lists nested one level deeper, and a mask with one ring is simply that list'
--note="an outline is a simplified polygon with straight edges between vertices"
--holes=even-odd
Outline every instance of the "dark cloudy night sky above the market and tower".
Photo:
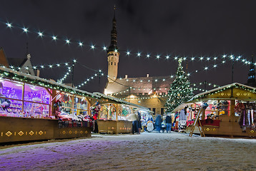
[{"label": "dark cloudy night sky above the market and tower", "polygon": [[[110,31],[117,6],[117,43],[120,51],[119,77],[169,76],[177,70],[174,56],[187,57],[191,83],[207,81],[224,86],[231,83],[232,62],[221,63],[222,55],[242,56],[247,60],[255,54],[256,1],[0,1],[0,46],[8,58],[26,57],[26,42],[34,66],[71,62],[74,85],[77,86],[102,69],[107,75],[107,53]],[[8,28],[6,22],[14,24]],[[17,27],[17,26],[20,26]],[[24,33],[22,27],[28,28]],[[40,38],[35,31],[44,32]],[[57,36],[53,41],[51,36]],[[71,43],[65,43],[68,38]],[[83,41],[84,46],[78,46]],[[96,45],[92,50],[90,45]],[[129,49],[132,55],[127,56]],[[136,53],[142,53],[138,57]],[[150,58],[146,54],[150,53]],[[156,56],[160,58],[157,59]],[[165,56],[170,55],[167,60]],[[192,56],[196,57],[194,62]],[[199,57],[204,60],[200,61]],[[213,61],[217,56],[218,60]],[[255,54],[256,56],[256,54]],[[210,61],[205,61],[210,57]],[[256,60],[256,58],[255,58]],[[184,66],[185,63],[183,63]],[[85,67],[87,66],[87,67]],[[88,68],[89,67],[89,68]],[[234,81],[247,82],[249,65],[235,61]],[[199,70],[198,73],[195,73]],[[200,71],[202,70],[202,71]],[[42,78],[57,80],[67,68],[40,69]],[[71,83],[72,77],[66,81]],[[107,78],[90,81],[81,89],[103,92]],[[211,89],[211,87],[207,87]]]}]

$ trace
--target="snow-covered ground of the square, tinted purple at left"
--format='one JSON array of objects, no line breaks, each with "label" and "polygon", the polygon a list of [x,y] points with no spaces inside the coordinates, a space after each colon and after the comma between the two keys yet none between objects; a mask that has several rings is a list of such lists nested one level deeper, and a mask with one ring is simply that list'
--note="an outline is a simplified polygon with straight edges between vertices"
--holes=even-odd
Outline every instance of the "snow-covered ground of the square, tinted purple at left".
[{"label": "snow-covered ground of the square, tinted purple at left", "polygon": [[256,170],[256,140],[93,135],[2,147],[0,170]]}]

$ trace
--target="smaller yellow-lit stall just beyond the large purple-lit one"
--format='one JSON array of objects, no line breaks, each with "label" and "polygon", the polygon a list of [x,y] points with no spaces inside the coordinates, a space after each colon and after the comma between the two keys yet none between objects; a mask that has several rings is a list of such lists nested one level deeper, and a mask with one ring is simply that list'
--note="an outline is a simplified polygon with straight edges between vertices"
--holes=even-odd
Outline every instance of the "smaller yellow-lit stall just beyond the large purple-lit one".
[{"label": "smaller yellow-lit stall just beyond the large purple-lit one", "polygon": [[101,97],[102,110],[99,112],[97,120],[99,133],[132,133],[132,121],[127,120],[127,116],[131,113],[138,113],[143,122],[146,115],[151,113],[150,110],[140,105],[102,93],[94,94]]}]

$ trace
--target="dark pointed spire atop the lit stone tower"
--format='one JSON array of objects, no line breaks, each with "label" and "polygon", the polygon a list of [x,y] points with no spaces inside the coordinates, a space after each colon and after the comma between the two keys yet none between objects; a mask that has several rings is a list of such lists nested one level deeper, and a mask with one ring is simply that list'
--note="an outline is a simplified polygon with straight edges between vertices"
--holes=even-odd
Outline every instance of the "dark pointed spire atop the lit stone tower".
[{"label": "dark pointed spire atop the lit stone tower", "polygon": [[116,6],[114,6],[114,17],[112,21],[112,31],[111,31],[111,42],[107,52],[118,51],[117,48],[117,21],[116,21]]}]

